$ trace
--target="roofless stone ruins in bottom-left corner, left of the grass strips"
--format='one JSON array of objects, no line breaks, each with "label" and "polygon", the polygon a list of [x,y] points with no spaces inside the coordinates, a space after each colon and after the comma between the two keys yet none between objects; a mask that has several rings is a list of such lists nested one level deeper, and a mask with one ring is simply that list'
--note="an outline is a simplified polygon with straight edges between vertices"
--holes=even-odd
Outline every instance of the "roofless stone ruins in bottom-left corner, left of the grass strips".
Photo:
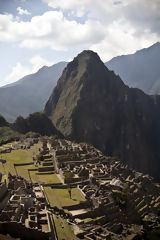
[{"label": "roofless stone ruins in bottom-left corner, left of the grass strips", "polygon": [[6,195],[8,201],[0,211],[1,233],[26,240],[57,239],[42,186],[9,174],[8,186],[0,185],[1,199]]}]

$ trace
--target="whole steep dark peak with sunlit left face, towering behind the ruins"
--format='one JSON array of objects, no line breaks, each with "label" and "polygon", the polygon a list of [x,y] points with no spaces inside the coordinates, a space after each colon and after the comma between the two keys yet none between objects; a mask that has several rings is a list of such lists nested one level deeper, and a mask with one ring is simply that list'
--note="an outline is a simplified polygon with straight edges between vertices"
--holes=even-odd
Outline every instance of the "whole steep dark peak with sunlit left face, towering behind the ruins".
[{"label": "whole steep dark peak with sunlit left face, towering behind the ruins", "polygon": [[67,65],[44,113],[65,137],[159,178],[159,96],[127,87],[96,53],[84,51]]}]

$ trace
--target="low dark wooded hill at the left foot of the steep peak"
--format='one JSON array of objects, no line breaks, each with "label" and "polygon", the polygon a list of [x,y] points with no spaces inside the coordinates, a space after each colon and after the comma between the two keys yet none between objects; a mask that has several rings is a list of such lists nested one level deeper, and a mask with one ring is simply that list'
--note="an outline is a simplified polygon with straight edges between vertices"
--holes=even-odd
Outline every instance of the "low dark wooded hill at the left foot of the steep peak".
[{"label": "low dark wooded hill at the left foot of the steep peak", "polygon": [[30,114],[26,119],[19,116],[12,125],[12,129],[20,132],[36,132],[41,135],[57,135],[62,137],[62,134],[53,126],[52,121],[43,113]]}]

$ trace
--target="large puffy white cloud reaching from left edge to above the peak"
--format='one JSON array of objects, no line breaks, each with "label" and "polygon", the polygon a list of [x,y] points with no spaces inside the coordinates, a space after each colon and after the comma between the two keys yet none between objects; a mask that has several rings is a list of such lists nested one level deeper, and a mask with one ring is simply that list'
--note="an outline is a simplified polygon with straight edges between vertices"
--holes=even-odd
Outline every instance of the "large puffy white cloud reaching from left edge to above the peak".
[{"label": "large puffy white cloud reaching from left edge to above the peak", "polygon": [[[96,31],[95,31],[96,29]],[[21,47],[50,46],[65,50],[74,46],[89,46],[104,37],[103,26],[96,20],[85,23],[69,21],[60,11],[48,11],[28,22],[18,21],[12,15],[0,15],[0,41],[20,42]]]}]

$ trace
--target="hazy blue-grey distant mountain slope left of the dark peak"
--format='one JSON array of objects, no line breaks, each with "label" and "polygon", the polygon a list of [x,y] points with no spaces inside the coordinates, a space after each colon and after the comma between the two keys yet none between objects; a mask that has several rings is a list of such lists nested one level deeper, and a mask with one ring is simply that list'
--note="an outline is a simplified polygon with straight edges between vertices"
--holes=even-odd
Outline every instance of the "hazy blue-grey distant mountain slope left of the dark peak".
[{"label": "hazy blue-grey distant mountain slope left of the dark peak", "polygon": [[0,88],[0,112],[13,122],[17,116],[41,111],[53,87],[61,76],[66,63],[42,67],[38,72],[20,79],[14,84]]}]

